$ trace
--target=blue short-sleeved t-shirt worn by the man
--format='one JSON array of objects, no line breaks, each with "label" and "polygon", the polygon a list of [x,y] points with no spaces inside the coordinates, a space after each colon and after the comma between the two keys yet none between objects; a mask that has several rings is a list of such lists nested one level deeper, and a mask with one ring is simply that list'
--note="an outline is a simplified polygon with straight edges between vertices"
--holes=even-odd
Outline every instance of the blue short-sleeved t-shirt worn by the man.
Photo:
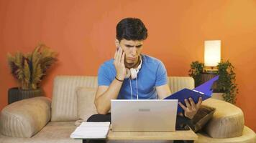
[{"label": "blue short-sleeved t-shirt worn by the man", "polygon": [[[117,99],[157,99],[155,87],[167,84],[167,72],[162,61],[145,54],[142,56],[142,67],[136,79],[131,79],[132,94],[129,79],[124,79]],[[98,85],[109,86],[116,77],[116,69],[113,64],[114,59],[101,64],[98,73]],[[138,89],[137,89],[138,87]]]}]

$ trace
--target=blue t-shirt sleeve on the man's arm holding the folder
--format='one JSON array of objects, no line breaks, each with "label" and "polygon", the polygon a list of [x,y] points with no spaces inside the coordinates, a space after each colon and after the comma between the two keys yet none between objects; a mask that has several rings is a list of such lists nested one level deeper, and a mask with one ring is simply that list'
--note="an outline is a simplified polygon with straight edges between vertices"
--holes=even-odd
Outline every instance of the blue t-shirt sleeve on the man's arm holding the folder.
[{"label": "blue t-shirt sleeve on the man's arm holding the folder", "polygon": [[155,86],[158,87],[165,84],[167,84],[167,71],[163,62],[160,61],[157,68],[157,79],[155,82]]}]

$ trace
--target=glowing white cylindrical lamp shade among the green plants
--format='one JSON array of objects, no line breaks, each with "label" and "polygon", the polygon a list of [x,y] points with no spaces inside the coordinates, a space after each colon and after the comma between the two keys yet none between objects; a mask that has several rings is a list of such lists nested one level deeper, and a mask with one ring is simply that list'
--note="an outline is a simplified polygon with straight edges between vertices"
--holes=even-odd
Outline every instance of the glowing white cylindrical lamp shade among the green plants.
[{"label": "glowing white cylindrical lamp shade among the green plants", "polygon": [[221,61],[221,41],[204,41],[204,65],[217,66]]}]

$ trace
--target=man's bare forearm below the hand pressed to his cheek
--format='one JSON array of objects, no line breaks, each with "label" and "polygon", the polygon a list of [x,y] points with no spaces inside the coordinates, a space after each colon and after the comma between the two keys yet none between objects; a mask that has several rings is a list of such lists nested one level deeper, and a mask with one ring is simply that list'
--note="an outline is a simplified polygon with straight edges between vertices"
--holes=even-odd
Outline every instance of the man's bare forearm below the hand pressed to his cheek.
[{"label": "man's bare forearm below the hand pressed to his cheek", "polygon": [[117,99],[122,84],[123,82],[119,82],[118,80],[114,79],[106,92],[95,99],[97,112],[99,114],[107,114],[109,112],[111,107],[111,99]]}]

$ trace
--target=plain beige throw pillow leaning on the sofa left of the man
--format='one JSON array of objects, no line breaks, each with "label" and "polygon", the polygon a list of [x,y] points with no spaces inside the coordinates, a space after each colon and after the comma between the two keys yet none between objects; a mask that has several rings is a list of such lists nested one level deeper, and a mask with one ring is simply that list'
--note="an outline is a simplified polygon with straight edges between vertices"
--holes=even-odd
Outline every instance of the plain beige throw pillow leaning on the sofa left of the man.
[{"label": "plain beige throw pillow leaning on the sofa left of the man", "polygon": [[78,123],[86,121],[93,114],[97,114],[97,109],[94,104],[96,91],[97,88],[91,87],[78,87],[76,89],[78,99]]}]

